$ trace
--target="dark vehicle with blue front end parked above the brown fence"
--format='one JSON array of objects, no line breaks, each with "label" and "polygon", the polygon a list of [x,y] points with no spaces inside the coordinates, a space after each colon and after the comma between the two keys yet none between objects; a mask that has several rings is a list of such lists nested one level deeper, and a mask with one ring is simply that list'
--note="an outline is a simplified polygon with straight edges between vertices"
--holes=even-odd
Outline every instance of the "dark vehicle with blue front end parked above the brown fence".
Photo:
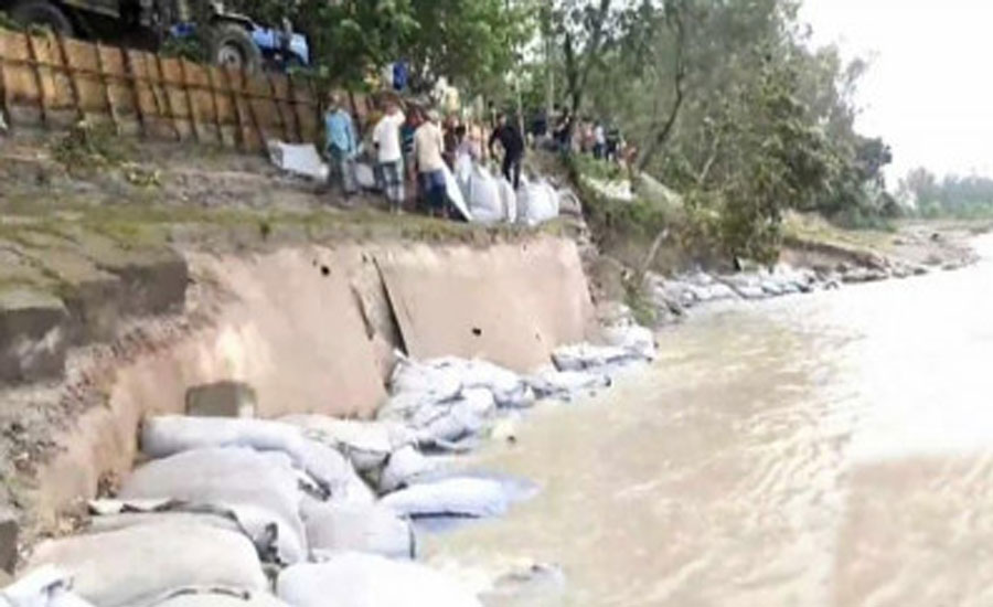
[{"label": "dark vehicle with blue front end parked above the brown fence", "polygon": [[281,28],[269,28],[217,1],[0,0],[0,11],[28,26],[151,51],[170,38],[204,34],[212,63],[248,72],[310,64],[307,39],[293,32],[288,20]]}]

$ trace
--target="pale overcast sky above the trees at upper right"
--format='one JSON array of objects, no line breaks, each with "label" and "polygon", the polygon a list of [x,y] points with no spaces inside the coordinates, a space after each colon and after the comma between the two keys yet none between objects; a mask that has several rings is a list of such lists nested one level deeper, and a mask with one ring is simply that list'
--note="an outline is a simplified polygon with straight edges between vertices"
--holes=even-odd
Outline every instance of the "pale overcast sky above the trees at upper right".
[{"label": "pale overcast sky above the trees at upper right", "polygon": [[858,129],[893,146],[894,182],[918,166],[993,175],[993,0],[804,0],[801,17],[875,57]]}]

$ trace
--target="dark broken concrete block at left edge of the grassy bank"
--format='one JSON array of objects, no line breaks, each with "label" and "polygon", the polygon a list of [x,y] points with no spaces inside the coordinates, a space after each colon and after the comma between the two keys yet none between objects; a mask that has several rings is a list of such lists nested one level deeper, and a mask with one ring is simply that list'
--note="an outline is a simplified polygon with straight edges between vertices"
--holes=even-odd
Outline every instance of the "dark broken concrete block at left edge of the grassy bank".
[{"label": "dark broken concrete block at left edge of the grassy bank", "polygon": [[61,377],[67,319],[58,298],[31,287],[0,287],[0,383]]}]

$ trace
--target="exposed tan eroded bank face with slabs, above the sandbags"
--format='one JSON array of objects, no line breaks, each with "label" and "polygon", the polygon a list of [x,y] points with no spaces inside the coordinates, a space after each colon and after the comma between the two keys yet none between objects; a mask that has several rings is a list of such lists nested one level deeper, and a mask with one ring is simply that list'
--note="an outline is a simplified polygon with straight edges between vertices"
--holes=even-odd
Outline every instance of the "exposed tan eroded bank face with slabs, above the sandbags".
[{"label": "exposed tan eroded bank face with slabs, above the sandbags", "polygon": [[38,529],[113,487],[137,456],[142,417],[183,411],[191,386],[246,382],[261,417],[370,417],[396,351],[526,371],[558,344],[595,338],[579,255],[563,238],[183,257],[192,277],[184,315],[145,321],[161,327],[120,355],[74,362],[70,377],[86,377],[86,391],[104,400],[70,408],[61,427],[35,437],[45,443],[31,475]]}]

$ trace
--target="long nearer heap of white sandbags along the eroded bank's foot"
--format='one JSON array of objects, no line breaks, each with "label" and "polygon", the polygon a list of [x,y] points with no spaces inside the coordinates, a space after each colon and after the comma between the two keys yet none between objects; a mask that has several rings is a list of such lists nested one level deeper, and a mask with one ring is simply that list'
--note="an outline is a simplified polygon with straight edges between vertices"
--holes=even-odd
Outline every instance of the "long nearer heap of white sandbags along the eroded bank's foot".
[{"label": "long nearer heap of white sandbags along the eroded bank's foot", "polygon": [[471,448],[537,398],[605,387],[654,352],[638,327],[608,339],[562,348],[532,376],[478,360],[404,360],[372,422],[148,418],[146,462],[114,499],[90,504],[84,533],[38,546],[0,604],[479,606],[415,562],[416,529],[501,515],[535,488],[449,471],[437,451]]}]

